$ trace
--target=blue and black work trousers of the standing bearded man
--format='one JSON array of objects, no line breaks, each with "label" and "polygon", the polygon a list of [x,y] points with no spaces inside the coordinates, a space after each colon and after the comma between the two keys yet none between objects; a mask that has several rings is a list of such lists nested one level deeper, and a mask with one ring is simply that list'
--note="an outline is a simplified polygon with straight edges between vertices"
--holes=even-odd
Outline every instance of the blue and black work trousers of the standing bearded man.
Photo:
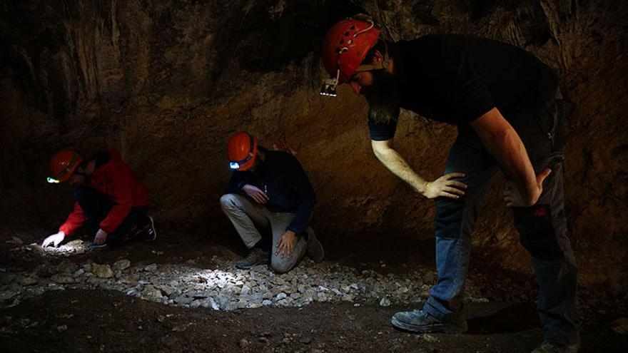
[{"label": "blue and black work trousers of the standing bearded man", "polygon": [[[532,111],[509,114],[506,118],[522,138],[535,172],[547,167],[536,205],[513,208],[515,228],[522,245],[530,252],[540,288],[539,314],[545,341],[579,343],[577,317],[577,265],[567,237],[564,214],[562,169],[562,97]],[[436,200],[436,267],[438,280],[423,309],[434,317],[447,319],[463,315],[462,297],[469,270],[471,233],[482,197],[495,180],[499,166],[470,126],[458,128],[445,173],[462,172],[469,188],[459,200]]]}]

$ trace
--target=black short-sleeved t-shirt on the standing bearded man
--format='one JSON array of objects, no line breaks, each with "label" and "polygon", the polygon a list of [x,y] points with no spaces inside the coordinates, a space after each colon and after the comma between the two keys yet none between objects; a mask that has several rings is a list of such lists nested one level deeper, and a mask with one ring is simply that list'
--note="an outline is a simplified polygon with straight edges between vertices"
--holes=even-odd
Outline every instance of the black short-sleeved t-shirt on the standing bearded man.
[{"label": "black short-sleeved t-shirt on the standing bearded man", "polygon": [[[530,111],[551,98],[558,77],[531,53],[492,39],[432,34],[395,44],[400,108],[434,121],[470,123],[497,107]],[[395,135],[398,116],[378,123],[369,113],[372,140]]]}]

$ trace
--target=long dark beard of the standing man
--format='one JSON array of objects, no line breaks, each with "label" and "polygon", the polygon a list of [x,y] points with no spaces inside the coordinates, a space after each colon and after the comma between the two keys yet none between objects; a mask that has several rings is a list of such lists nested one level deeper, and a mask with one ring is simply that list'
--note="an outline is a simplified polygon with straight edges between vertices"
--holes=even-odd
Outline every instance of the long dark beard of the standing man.
[{"label": "long dark beard of the standing man", "polygon": [[399,116],[401,91],[392,73],[383,70],[371,71],[373,84],[363,86],[360,93],[368,101],[369,118],[377,123],[388,123]]}]

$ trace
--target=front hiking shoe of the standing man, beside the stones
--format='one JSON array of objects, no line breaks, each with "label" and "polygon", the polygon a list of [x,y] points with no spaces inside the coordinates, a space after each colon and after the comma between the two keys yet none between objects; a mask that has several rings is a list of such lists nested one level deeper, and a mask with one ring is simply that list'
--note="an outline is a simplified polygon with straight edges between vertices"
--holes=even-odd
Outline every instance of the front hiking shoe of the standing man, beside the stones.
[{"label": "front hiking shoe of the standing man, beside the stones", "polygon": [[465,319],[460,322],[441,320],[422,310],[397,312],[390,322],[398,329],[420,333],[463,333],[467,331],[467,320]]}]

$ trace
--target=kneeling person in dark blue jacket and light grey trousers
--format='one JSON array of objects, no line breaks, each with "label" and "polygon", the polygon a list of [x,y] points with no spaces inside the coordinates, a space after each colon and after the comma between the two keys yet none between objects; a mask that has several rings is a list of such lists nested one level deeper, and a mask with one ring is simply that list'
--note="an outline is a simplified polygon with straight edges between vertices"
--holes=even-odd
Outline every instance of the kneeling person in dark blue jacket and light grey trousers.
[{"label": "kneeling person in dark blue jacket and light grey trousers", "polygon": [[[298,160],[259,146],[258,138],[245,132],[233,135],[227,152],[233,174],[221,207],[249,249],[236,267],[247,269],[270,259],[273,270],[284,273],[305,254],[323,261],[323,246],[307,225],[314,190]],[[260,230],[270,230],[272,239]]]}]

